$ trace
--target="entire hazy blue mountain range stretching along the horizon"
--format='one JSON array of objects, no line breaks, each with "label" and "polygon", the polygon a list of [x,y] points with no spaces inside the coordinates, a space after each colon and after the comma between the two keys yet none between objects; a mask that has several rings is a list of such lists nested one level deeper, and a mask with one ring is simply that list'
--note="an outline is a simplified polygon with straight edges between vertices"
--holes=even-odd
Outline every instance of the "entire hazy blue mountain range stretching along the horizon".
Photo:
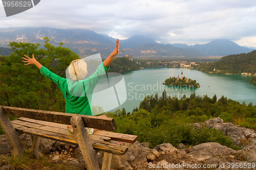
[{"label": "entire hazy blue mountain range stretching along the horizon", "polygon": [[[108,56],[115,48],[116,39],[86,29],[56,28],[0,28],[0,46],[7,47],[9,41],[44,44],[43,37],[50,43],[68,47],[81,57],[100,53]],[[207,57],[249,53],[254,49],[240,46],[230,40],[212,40],[206,44],[160,44],[151,38],[134,35],[119,40],[119,56],[132,55],[140,58],[155,57]],[[42,47],[42,45],[40,47]]]}]

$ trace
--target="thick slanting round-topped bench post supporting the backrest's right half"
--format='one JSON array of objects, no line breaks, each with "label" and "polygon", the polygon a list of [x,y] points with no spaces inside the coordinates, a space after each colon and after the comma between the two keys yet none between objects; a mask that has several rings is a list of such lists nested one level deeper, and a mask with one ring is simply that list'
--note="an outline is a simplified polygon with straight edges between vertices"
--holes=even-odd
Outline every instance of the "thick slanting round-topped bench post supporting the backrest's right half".
[{"label": "thick slanting round-topped bench post supporting the backrest's right half", "polygon": [[81,117],[73,116],[71,118],[71,125],[74,129],[76,139],[81,150],[84,162],[88,170],[99,170],[99,164],[96,158],[96,153],[93,149],[90,137],[87,130],[84,128],[84,124]]}]

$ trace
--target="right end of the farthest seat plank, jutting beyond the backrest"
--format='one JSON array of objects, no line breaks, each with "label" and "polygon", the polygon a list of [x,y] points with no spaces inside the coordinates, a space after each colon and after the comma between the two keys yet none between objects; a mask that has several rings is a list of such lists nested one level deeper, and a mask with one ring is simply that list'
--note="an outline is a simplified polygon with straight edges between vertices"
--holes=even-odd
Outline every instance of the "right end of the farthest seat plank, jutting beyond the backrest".
[{"label": "right end of the farthest seat plank, jutting beyond the backrest", "polygon": [[110,137],[111,140],[117,140],[122,142],[134,143],[138,136],[135,135],[127,135],[122,133],[114,133],[114,132],[106,132],[106,131],[96,131],[93,133],[94,135],[107,136]]}]

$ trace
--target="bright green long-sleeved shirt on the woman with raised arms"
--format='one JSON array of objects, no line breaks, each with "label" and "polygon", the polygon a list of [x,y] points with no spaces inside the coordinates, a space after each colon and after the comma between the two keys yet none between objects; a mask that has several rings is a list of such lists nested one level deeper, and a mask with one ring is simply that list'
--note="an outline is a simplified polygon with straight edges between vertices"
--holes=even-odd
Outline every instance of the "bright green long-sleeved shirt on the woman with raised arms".
[{"label": "bright green long-sleeved shirt on the woman with raised arms", "polygon": [[66,113],[92,115],[89,104],[89,101],[91,102],[92,100],[92,95],[89,95],[90,99],[88,99],[87,94],[93,93],[94,87],[108,69],[109,67],[106,68],[101,63],[92,76],[86,80],[79,80],[74,84],[73,80],[55,75],[44,66],[41,67],[40,73],[58,85],[66,101]]}]

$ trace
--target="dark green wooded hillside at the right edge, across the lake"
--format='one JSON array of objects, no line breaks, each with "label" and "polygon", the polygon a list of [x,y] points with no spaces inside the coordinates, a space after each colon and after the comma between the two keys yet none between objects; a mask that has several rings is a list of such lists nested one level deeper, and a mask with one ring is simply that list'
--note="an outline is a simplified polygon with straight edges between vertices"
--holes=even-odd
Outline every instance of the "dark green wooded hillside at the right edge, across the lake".
[{"label": "dark green wooded hillside at the right edge, across the lake", "polygon": [[[256,50],[247,54],[229,55],[220,61],[204,63],[198,69],[215,74],[241,74],[242,72],[256,72]],[[215,70],[214,70],[215,69]]]}]

